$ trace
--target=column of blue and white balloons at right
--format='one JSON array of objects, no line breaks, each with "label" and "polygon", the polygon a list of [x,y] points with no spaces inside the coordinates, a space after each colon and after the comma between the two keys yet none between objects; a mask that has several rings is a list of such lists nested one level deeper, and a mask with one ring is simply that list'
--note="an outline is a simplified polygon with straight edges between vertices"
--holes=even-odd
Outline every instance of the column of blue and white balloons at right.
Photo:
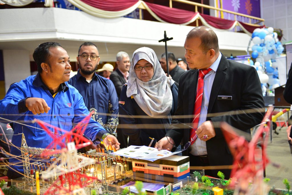
[{"label": "column of blue and white balloons at right", "polygon": [[280,86],[276,57],[283,52],[284,47],[277,37],[278,34],[274,32],[272,27],[257,28],[253,31],[248,44],[249,48],[251,42],[254,43],[251,47],[253,51],[251,57],[255,62],[251,60],[250,65],[258,72],[263,95],[266,95],[267,90],[270,93],[267,95],[273,95],[273,90]]}]

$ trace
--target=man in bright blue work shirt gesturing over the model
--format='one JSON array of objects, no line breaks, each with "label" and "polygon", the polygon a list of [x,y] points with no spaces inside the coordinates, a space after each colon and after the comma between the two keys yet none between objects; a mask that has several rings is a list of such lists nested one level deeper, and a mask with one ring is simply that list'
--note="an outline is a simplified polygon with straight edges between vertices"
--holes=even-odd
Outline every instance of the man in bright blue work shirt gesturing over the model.
[{"label": "man in bright blue work shirt gesturing over the model", "polygon": [[[66,83],[71,66],[65,49],[59,43],[42,43],[35,49],[33,58],[38,74],[14,83],[4,99],[0,100],[0,117],[17,121],[13,123],[12,137],[12,144],[16,147],[11,147],[14,157],[21,155],[19,147],[22,133],[29,147],[46,148],[51,144],[52,138],[38,123],[34,123],[34,119],[69,131],[72,125],[76,125],[89,114],[80,93]],[[51,130],[53,131],[52,128]],[[55,133],[63,134],[61,131]],[[84,135],[93,141],[103,142],[107,149],[119,149],[117,138],[91,118]],[[8,178],[21,177],[19,173],[23,173],[23,166],[19,166],[22,164],[20,158],[9,159],[9,164]]]}]

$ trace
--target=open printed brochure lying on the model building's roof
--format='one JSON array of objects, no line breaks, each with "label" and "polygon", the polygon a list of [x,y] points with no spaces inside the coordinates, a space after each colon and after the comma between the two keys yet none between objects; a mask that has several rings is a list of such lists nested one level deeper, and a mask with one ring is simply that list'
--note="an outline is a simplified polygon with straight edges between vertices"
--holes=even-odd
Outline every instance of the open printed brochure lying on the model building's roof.
[{"label": "open printed brochure lying on the model building's roof", "polygon": [[147,146],[129,146],[124,149],[119,149],[117,152],[112,154],[118,156],[124,156],[132,159],[142,159],[147,161],[156,161],[157,159],[165,158],[179,152],[170,152],[168,150],[157,150],[156,148]]}]

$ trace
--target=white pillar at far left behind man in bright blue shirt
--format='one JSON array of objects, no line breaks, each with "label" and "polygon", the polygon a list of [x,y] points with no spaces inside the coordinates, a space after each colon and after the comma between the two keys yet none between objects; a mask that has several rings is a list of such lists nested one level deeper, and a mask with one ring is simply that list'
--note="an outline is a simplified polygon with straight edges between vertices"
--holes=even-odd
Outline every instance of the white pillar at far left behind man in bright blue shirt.
[{"label": "white pillar at far left behind man in bright blue shirt", "polygon": [[12,83],[30,76],[29,51],[3,50],[5,92]]}]

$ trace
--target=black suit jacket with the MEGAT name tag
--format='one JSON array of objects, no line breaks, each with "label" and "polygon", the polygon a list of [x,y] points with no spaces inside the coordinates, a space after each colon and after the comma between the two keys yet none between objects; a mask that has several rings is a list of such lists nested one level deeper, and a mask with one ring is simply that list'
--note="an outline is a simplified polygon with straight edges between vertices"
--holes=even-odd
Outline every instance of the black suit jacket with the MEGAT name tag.
[{"label": "black suit jacket with the MEGAT name tag", "polygon": [[[197,70],[189,70],[180,77],[176,116],[193,115],[197,80]],[[232,100],[218,100],[220,95],[232,96]],[[222,55],[211,89],[207,121],[211,120],[214,127],[217,126],[216,122],[225,121],[239,130],[250,132],[250,128],[259,124],[263,119],[263,110],[259,111],[259,109],[264,107],[262,89],[256,69],[227,60]],[[245,109],[255,110],[253,113],[247,113],[243,111]],[[220,114],[220,112],[228,111],[235,111],[237,114]],[[219,114],[210,115],[212,113]],[[192,117],[185,119],[174,118],[172,121],[172,129],[166,133],[166,136],[170,136],[176,145],[182,139],[185,144],[190,137],[190,129],[187,126],[184,129],[179,129],[177,126],[181,126],[181,124],[178,124],[178,121],[189,123],[190,125]],[[210,165],[232,164],[232,155],[219,126],[215,128],[215,133],[215,137],[206,141]],[[187,151],[184,152],[183,155],[187,155]]]}]

